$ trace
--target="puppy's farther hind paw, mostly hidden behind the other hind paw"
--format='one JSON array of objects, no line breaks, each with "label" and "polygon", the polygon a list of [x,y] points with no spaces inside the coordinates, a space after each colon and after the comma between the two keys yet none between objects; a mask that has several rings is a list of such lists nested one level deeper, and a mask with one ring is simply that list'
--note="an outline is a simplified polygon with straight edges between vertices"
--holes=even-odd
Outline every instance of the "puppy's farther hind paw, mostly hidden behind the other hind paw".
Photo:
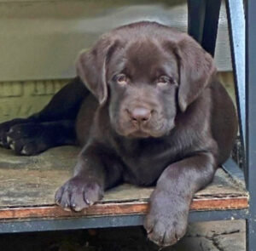
[{"label": "puppy's farther hind paw, mostly hidden behind the other hind paw", "polygon": [[28,122],[28,120],[24,118],[15,118],[8,122],[0,123],[0,145],[9,148],[8,133],[10,128],[17,124],[26,123],[26,121]]}]

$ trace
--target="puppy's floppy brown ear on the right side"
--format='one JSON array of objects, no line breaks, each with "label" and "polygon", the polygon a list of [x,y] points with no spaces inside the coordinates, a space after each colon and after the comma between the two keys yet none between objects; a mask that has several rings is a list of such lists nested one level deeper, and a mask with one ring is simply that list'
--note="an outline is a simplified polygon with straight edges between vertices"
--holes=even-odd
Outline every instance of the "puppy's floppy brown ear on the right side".
[{"label": "puppy's floppy brown ear on the right side", "polygon": [[187,107],[207,87],[212,75],[216,73],[216,67],[212,56],[187,35],[177,43],[176,48],[180,78],[178,106],[181,111],[186,111]]}]

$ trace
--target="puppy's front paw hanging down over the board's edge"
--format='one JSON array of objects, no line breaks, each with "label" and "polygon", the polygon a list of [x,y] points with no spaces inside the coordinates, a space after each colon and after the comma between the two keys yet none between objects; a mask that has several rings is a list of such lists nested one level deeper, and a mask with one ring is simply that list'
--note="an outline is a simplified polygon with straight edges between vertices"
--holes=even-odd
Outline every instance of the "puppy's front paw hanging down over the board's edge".
[{"label": "puppy's front paw hanging down over the board's edge", "polygon": [[148,238],[159,246],[175,244],[184,236],[188,225],[189,202],[168,193],[158,189],[153,192],[144,221]]}]

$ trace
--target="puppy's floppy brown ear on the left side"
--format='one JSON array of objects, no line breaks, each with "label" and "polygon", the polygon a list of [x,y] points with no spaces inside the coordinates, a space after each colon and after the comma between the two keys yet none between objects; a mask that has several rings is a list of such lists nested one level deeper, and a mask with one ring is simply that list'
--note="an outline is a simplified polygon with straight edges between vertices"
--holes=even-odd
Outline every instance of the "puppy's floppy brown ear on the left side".
[{"label": "puppy's floppy brown ear on the left side", "polygon": [[116,44],[110,37],[102,37],[90,51],[81,52],[76,63],[77,74],[96,96],[100,105],[103,105],[108,98],[107,65]]}]

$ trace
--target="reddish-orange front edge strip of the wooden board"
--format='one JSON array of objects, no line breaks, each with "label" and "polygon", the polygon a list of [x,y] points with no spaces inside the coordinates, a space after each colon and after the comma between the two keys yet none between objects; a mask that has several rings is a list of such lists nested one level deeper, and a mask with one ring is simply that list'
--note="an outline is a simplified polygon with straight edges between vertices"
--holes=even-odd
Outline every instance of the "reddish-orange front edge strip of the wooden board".
[{"label": "reddish-orange front edge strip of the wooden board", "polygon": [[[148,212],[148,207],[148,202],[97,203],[79,213],[65,211],[55,205],[34,208],[3,208],[0,209],[0,220],[102,216],[113,214],[146,214]],[[193,203],[191,203],[190,210],[225,210],[247,207],[247,197],[203,198],[194,199]]]}]

